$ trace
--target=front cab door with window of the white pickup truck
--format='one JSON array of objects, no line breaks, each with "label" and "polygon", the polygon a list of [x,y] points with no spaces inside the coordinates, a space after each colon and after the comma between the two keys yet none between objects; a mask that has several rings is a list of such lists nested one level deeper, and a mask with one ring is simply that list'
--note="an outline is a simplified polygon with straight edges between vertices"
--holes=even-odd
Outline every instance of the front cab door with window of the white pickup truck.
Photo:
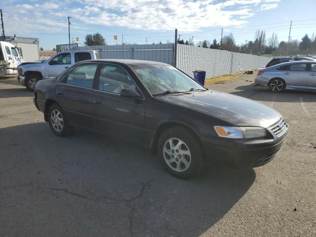
[{"label": "front cab door with window of the white pickup truck", "polygon": [[59,53],[44,66],[43,77],[52,78],[66,70],[72,65],[71,53]]}]

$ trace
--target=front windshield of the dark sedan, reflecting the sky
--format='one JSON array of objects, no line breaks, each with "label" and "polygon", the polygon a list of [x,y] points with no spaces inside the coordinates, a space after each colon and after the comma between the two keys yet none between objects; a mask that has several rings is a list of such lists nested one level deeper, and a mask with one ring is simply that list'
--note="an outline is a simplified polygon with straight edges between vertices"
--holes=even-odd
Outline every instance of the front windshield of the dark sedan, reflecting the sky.
[{"label": "front windshield of the dark sedan, reflecting the sky", "polygon": [[152,64],[132,65],[131,68],[152,95],[166,91],[205,90],[194,79],[172,66]]}]

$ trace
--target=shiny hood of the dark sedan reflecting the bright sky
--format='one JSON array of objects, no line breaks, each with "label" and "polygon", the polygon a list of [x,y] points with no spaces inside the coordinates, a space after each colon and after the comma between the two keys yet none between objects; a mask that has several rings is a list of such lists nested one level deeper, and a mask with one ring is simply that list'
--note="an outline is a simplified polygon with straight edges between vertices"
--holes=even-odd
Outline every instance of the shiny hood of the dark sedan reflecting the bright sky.
[{"label": "shiny hood of the dark sedan reflecting the bright sky", "polygon": [[235,126],[267,128],[281,118],[281,115],[269,106],[219,91],[207,90],[192,94],[166,95],[155,98],[223,119]]}]

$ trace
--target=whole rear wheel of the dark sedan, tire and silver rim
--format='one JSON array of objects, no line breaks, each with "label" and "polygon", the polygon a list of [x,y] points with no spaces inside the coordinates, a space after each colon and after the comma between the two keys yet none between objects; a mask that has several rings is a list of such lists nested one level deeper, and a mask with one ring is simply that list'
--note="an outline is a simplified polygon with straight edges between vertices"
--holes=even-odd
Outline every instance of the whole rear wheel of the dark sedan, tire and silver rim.
[{"label": "whole rear wheel of the dark sedan, tire and silver rim", "polygon": [[48,109],[48,123],[51,130],[60,137],[71,135],[75,127],[71,126],[58,104],[52,104]]}]

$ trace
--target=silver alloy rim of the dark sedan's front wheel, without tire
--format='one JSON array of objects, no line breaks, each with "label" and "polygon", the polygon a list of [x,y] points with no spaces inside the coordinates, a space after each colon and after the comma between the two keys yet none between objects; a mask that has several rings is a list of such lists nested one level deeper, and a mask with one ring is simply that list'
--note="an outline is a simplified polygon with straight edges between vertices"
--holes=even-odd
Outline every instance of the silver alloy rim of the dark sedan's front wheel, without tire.
[{"label": "silver alloy rim of the dark sedan's front wheel, without tire", "polygon": [[189,147],[179,138],[169,138],[164,143],[163,158],[167,165],[176,172],[187,170],[192,160]]}]

